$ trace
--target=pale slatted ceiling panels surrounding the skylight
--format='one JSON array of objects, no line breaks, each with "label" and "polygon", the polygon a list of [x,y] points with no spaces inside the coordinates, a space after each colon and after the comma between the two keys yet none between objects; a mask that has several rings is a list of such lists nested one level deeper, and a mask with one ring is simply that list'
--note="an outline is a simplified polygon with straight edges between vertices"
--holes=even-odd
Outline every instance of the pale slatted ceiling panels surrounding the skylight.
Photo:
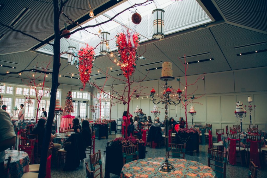
[{"label": "pale slatted ceiling panels surrounding the skylight", "polygon": [[[214,60],[189,64],[188,75],[267,66],[267,52],[237,56],[239,53],[267,49],[267,15],[256,15],[258,14],[258,11],[262,11],[262,13],[266,14],[266,1],[259,0],[252,2],[249,0],[229,0],[227,1],[228,3],[225,3],[224,0],[204,1],[205,0],[198,0],[199,4],[203,7],[206,13],[214,14],[207,11],[207,9],[215,6],[223,20],[211,22],[206,24],[206,26],[200,25],[198,28],[193,27],[176,32],[167,35],[161,40],[150,40],[141,43],[139,51],[141,54],[145,52],[143,56],[146,59],[138,59],[138,65],[135,71],[136,80],[139,78],[143,79],[146,75],[147,78],[145,80],[159,79],[161,69],[150,71],[148,74],[146,69],[161,67],[160,63],[142,67],[140,66],[142,64],[157,61],[172,62],[174,76],[184,76],[184,69],[180,63],[179,57],[184,55],[197,55],[201,53],[207,54],[187,57],[187,62],[209,58],[213,58]],[[95,8],[108,1],[95,0],[89,2],[92,8]],[[203,6],[202,2],[205,6]],[[27,16],[25,16],[25,18],[23,18],[23,20],[14,28],[24,30],[41,40],[53,34],[53,7],[50,1],[24,0],[18,3],[17,1],[0,0],[0,3],[5,4],[4,8],[0,11],[0,21],[2,23],[8,25],[22,7],[29,7],[32,8],[32,10],[30,10]],[[69,0],[67,6],[63,10],[64,12],[68,12],[68,15],[73,17],[73,19],[77,19],[85,13],[88,14],[88,2],[87,0]],[[174,17],[174,19],[177,21],[179,16]],[[60,21],[61,28],[64,27],[65,20],[66,19],[62,17]],[[140,27],[142,29],[142,26]],[[0,67],[0,73],[5,73],[7,70],[16,72],[22,69],[30,69],[37,64],[38,66],[41,64],[45,65],[45,63],[48,63],[48,61],[52,59],[50,56],[43,55],[37,51],[28,51],[38,44],[36,40],[33,40],[30,37],[19,34],[18,32],[13,32],[1,25],[0,34],[6,34],[6,36],[0,41],[0,64],[8,66],[14,65],[14,67],[17,67],[16,69]],[[74,46],[76,45],[76,47],[79,46],[79,43],[73,40],[68,40],[67,42],[65,39],[61,39],[61,51],[64,51],[64,49],[69,46],[69,43]],[[43,49],[50,50],[51,47],[45,46]],[[93,68],[92,75],[98,74],[97,69],[99,68],[102,70],[100,72],[102,74],[92,76],[92,80],[94,78],[107,76],[105,74],[106,71],[108,72],[108,81],[106,85],[112,84],[113,82],[113,79],[110,76],[123,79],[123,76],[116,76],[120,73],[120,71],[111,72],[119,69],[119,67],[115,66],[107,56],[98,56],[94,64],[95,67]],[[110,67],[112,67],[111,71],[109,69]],[[64,60],[64,56],[62,56],[59,73],[62,76],[71,76],[71,74],[67,74],[67,72],[78,73],[78,70],[74,65],[67,65],[66,60]],[[21,76],[17,74],[10,74],[8,76],[27,79],[29,76],[27,73],[28,72],[25,72]],[[47,79],[51,82],[50,76],[48,76]],[[59,81],[62,84],[81,86],[79,79],[61,77]],[[105,82],[105,79],[99,79],[96,80],[96,82],[101,86]],[[115,80],[114,84],[119,83],[122,82]],[[88,85],[88,87],[90,86]]]}]

